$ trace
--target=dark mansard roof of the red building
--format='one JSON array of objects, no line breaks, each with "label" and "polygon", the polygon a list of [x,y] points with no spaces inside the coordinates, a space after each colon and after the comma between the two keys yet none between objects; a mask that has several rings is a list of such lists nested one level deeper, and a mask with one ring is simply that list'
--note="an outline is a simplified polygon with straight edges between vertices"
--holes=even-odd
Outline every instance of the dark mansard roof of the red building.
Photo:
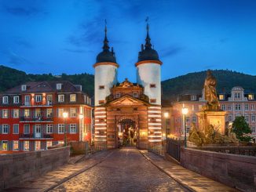
[{"label": "dark mansard roof of the red building", "polygon": [[[57,89],[58,83],[62,84],[60,90]],[[12,89],[6,90],[4,94],[17,94],[24,92],[81,92],[78,86],[73,85],[68,81],[27,82],[22,85],[27,85],[26,91],[21,91],[21,85],[18,85]]]}]

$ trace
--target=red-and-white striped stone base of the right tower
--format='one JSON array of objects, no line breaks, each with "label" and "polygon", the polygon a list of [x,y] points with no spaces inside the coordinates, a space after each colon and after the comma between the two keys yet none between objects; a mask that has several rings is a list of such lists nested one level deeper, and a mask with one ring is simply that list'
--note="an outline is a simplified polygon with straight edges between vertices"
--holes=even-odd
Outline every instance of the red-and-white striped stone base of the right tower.
[{"label": "red-and-white striped stone base of the right tower", "polygon": [[148,107],[148,144],[162,143],[161,107]]}]

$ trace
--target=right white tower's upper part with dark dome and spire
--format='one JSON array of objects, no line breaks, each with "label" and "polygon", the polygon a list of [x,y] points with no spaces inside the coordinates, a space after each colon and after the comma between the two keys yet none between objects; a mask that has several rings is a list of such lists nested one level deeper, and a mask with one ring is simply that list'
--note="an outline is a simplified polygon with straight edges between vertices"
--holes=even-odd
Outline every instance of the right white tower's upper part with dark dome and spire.
[{"label": "right white tower's upper part with dark dome and spire", "polygon": [[149,97],[149,103],[161,105],[161,65],[158,53],[152,49],[148,34],[145,45],[141,45],[137,67],[137,84],[144,87],[144,94]]}]

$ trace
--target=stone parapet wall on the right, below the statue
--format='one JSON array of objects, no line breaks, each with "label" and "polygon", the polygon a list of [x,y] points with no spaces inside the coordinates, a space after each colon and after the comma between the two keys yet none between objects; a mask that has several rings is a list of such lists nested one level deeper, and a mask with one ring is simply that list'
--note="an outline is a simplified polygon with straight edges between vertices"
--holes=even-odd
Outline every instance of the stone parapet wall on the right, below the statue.
[{"label": "stone parapet wall on the right, below the statue", "polygon": [[181,147],[181,165],[243,191],[256,190],[256,157]]}]

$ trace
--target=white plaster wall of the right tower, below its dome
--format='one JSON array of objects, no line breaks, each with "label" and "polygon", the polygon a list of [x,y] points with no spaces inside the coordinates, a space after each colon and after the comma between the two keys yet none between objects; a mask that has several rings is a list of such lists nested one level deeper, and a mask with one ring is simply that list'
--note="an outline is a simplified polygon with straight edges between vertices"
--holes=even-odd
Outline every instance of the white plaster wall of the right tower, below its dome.
[{"label": "white plaster wall of the right tower, below its dome", "polygon": [[[161,105],[161,65],[157,63],[143,63],[137,66],[137,83],[144,87],[144,94],[150,99],[156,99]],[[155,84],[155,88],[150,88]]]}]

